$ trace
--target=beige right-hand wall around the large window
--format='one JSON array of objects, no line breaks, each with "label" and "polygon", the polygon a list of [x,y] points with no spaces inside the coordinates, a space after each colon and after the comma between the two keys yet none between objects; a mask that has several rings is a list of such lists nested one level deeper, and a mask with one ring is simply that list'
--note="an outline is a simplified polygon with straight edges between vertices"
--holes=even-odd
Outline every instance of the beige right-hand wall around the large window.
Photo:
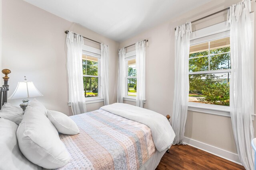
[{"label": "beige right-hand wall around the large window", "polygon": [[[120,43],[119,48],[148,39],[146,47],[146,104],[144,107],[162,115],[172,115],[174,96],[174,28],[229,7],[240,0],[212,0],[186,14],[167,21]],[[252,1],[252,11],[256,3]],[[192,24],[193,31],[226,20],[226,12]],[[255,39],[255,37],[254,37]],[[134,50],[135,47],[128,49]],[[254,47],[254,49],[256,49]],[[254,74],[256,75],[256,74]],[[156,89],[158,92],[156,92]],[[135,104],[134,102],[127,102]],[[256,122],[254,121],[254,127]],[[188,111],[185,137],[236,153],[230,117]]]}]

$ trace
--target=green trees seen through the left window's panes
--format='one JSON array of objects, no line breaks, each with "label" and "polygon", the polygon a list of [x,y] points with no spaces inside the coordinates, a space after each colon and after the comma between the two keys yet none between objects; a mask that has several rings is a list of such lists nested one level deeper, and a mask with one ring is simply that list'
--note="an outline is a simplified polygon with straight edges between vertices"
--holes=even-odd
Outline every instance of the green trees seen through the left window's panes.
[{"label": "green trees seen through the left window's panes", "polygon": [[90,55],[82,55],[83,79],[84,79],[84,96],[98,96],[98,58]]}]

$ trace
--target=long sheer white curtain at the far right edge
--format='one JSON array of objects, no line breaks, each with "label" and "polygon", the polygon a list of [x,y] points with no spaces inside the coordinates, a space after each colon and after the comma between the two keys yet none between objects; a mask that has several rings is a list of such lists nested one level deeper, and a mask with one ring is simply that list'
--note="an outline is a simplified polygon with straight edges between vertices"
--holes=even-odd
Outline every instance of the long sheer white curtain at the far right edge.
[{"label": "long sheer white curtain at the far right edge", "polygon": [[254,138],[252,117],[252,86],[250,74],[250,48],[252,27],[250,22],[250,0],[243,0],[230,6],[230,115],[241,163],[246,170],[253,170],[253,151],[250,141]]}]

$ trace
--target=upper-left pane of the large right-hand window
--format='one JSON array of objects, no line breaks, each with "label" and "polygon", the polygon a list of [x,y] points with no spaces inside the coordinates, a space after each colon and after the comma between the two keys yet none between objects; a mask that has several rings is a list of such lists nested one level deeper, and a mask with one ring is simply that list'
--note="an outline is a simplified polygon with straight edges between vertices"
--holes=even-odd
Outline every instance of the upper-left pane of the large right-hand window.
[{"label": "upper-left pane of the large right-hand window", "polygon": [[209,54],[209,43],[190,46],[189,58],[205,56]]}]

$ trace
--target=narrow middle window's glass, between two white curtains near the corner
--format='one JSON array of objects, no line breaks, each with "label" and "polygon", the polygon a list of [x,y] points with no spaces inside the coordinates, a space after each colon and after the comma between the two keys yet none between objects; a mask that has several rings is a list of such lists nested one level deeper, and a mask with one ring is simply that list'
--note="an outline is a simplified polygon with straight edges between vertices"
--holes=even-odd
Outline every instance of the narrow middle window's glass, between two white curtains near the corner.
[{"label": "narrow middle window's glass, between two white curtains near the corner", "polygon": [[126,60],[126,84],[127,84],[127,96],[133,97],[137,95],[137,72],[136,72],[136,56],[129,57]]}]

